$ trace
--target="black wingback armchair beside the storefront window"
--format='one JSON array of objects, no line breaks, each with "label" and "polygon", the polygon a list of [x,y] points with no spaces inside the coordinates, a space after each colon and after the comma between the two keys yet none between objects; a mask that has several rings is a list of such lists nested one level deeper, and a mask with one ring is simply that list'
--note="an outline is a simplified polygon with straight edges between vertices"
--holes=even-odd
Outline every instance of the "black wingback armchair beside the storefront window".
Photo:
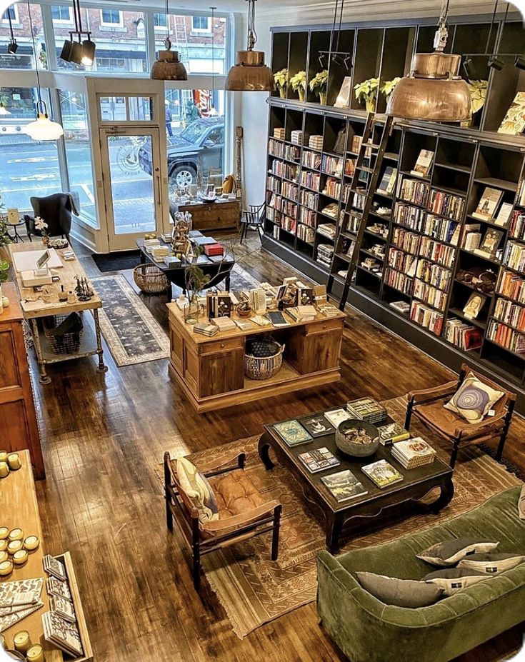
[{"label": "black wingback armchair beside the storefront window", "polygon": [[[71,217],[79,215],[79,196],[76,193],[55,193],[45,198],[31,198],[34,216],[40,216],[48,225],[47,234],[53,236],[65,236],[69,241],[71,232]],[[34,226],[34,216],[26,214],[27,236],[41,236],[41,232]]]}]

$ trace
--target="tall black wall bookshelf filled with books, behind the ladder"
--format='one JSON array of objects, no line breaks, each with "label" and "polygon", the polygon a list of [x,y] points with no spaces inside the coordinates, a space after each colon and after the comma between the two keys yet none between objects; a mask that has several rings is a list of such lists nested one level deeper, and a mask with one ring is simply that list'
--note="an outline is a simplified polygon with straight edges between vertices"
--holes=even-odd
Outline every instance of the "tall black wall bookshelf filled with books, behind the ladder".
[{"label": "tall black wall bookshelf filled with books, behind the ladder", "polygon": [[[504,272],[525,279],[525,271],[505,264],[506,251],[508,248],[510,250],[509,242],[519,244],[525,249],[525,238],[511,236],[510,221],[506,226],[501,226],[495,219],[481,220],[472,216],[486,187],[501,191],[500,205],[511,204],[514,211],[523,211],[525,214],[525,206],[519,205],[521,181],[525,176],[524,136],[509,136],[497,132],[516,91],[525,91],[525,72],[514,66],[515,56],[525,54],[525,31],[516,14],[510,15],[505,24],[502,15],[496,17],[487,50],[489,53],[498,54],[504,61],[504,68],[501,71],[490,69],[487,64],[488,56],[485,54],[490,19],[490,16],[455,16],[450,21],[450,38],[446,50],[471,59],[476,79],[488,81],[486,103],[481,111],[475,114],[471,124],[454,126],[402,121],[394,125],[378,181],[381,182],[385,169],[391,167],[397,171],[396,186],[392,194],[374,191],[362,239],[356,246],[359,256],[347,302],[451,368],[458,369],[463,361],[467,361],[496,381],[505,383],[508,388],[519,393],[518,410],[525,413],[525,351],[515,351],[509,341],[511,336],[505,339],[501,335],[503,331],[497,338],[494,333],[491,335],[495,324],[505,325],[510,329],[508,333],[523,336],[525,348],[525,328],[522,331],[509,321],[499,319],[495,312],[499,300],[525,309],[525,301],[516,301],[508,294],[499,292]],[[296,31],[289,28],[274,29],[274,71],[287,66],[289,75],[293,76],[304,70],[310,80],[318,71],[326,68],[329,71],[329,82],[326,106],[321,106],[319,98],[311,91],[307,91],[306,101],[299,101],[291,86],[286,99],[280,99],[278,95],[270,99],[269,140],[274,140],[274,129],[284,129],[285,141],[282,144],[291,149],[291,131],[302,131],[302,144],[295,146],[297,155],[294,159],[290,159],[289,154],[286,159],[269,154],[268,178],[275,176],[270,173],[274,161],[298,166],[293,183],[281,176],[281,186],[287,183],[297,187],[298,202],[294,205],[293,212],[296,218],[291,219],[295,222],[284,219],[284,214],[276,215],[269,210],[264,228],[265,246],[311,279],[322,283],[326,282],[330,273],[333,274],[335,296],[338,288],[343,291],[345,279],[338,275],[338,271],[344,274],[348,269],[351,253],[348,254],[347,250],[356,241],[359,229],[359,225],[350,225],[352,215],[359,219],[359,209],[351,204],[347,209],[344,188],[352,179],[352,175],[346,172],[346,161],[355,161],[358,155],[353,142],[354,136],[362,136],[366,123],[366,111],[364,105],[355,99],[354,86],[365,79],[377,77],[381,87],[385,81],[407,74],[413,54],[431,49],[436,22],[436,19],[429,18],[393,21],[384,25],[379,25],[376,21],[370,25],[343,26],[343,46],[340,46],[340,50],[351,54],[353,66],[349,70],[340,62],[332,62],[329,56],[325,56],[323,66],[319,63],[319,51],[329,49],[329,30],[326,26],[305,26]],[[463,71],[462,75],[465,76]],[[352,96],[349,107],[335,108],[334,103],[345,76],[351,78]],[[384,113],[385,109],[386,98],[379,92],[376,99],[378,135],[381,129],[381,113]],[[346,149],[341,154],[334,154],[334,145],[340,131],[345,132]],[[311,136],[321,136],[319,142],[322,149],[309,147]],[[411,171],[422,149],[434,152],[434,159],[428,173],[416,177]],[[306,164],[308,153],[318,156],[319,162],[315,166]],[[324,159],[329,157],[341,159],[342,168],[336,173],[321,165]],[[363,170],[363,176],[371,176],[372,168],[367,172],[364,164]],[[319,191],[301,184],[301,176],[309,172],[319,175]],[[420,201],[405,200],[406,196],[401,195],[404,179],[412,179],[428,187],[428,198]],[[328,194],[328,191],[324,193],[324,187],[331,180],[340,185],[336,195]],[[316,196],[316,204],[311,204],[312,199],[303,200],[303,194]],[[452,214],[454,218],[451,218],[449,213],[450,204],[441,211],[432,212],[432,196],[445,196],[444,199],[446,196],[454,196],[457,204],[461,205],[461,210]],[[272,194],[267,190],[266,202],[269,206],[271,201]],[[329,205],[335,216],[326,215],[324,210]],[[425,231],[424,224],[416,226],[414,223],[406,224],[400,220],[398,210],[403,205],[413,207],[413,213],[419,214],[419,218],[426,219],[427,215],[433,214],[437,219],[434,229]],[[303,211],[299,212],[301,208]],[[379,214],[379,209],[385,213]],[[299,233],[305,232],[300,229],[305,224],[299,214],[304,214],[302,218],[309,219],[307,227],[311,232],[307,237],[308,241],[305,240],[304,234],[299,236]],[[447,225],[448,221],[458,224],[454,241],[451,236],[443,234],[444,229],[451,229],[451,226]],[[354,220],[354,225],[358,222]],[[317,231],[319,224],[333,224],[334,237]],[[387,232],[384,236],[370,229],[374,224],[386,226]],[[487,229],[501,231],[503,237],[499,252],[487,257],[474,253],[474,250],[465,249],[467,224],[479,225],[481,240]],[[399,238],[406,237],[407,234],[416,238],[411,239],[414,241],[411,250],[407,250],[406,246],[396,246],[401,244]],[[322,246],[334,249],[330,261],[325,259],[323,263],[319,262],[319,246],[321,250]],[[384,247],[381,249],[383,255],[376,254],[378,246]],[[414,273],[407,274],[408,263],[396,266],[392,256],[399,254],[406,254],[415,260]],[[377,271],[366,269],[362,264],[366,258],[375,259],[379,263]],[[479,292],[475,285],[461,281],[461,271],[476,268],[494,274],[496,284],[493,292]],[[421,271],[418,272],[418,269]],[[421,275],[418,276],[418,273]],[[411,282],[408,282],[409,280]],[[414,291],[416,287],[418,289]],[[484,296],[483,306],[476,319],[469,319],[464,308],[471,294],[476,292]],[[410,312],[408,315],[402,314],[391,307],[390,304],[399,301],[408,304],[410,311],[423,304],[431,313],[441,316],[441,324],[437,330],[436,327],[427,328],[429,325],[424,326],[421,319],[411,319]],[[449,341],[446,331],[452,320],[478,329],[481,333],[481,346],[464,350]],[[519,348],[521,350],[521,340]]]}]

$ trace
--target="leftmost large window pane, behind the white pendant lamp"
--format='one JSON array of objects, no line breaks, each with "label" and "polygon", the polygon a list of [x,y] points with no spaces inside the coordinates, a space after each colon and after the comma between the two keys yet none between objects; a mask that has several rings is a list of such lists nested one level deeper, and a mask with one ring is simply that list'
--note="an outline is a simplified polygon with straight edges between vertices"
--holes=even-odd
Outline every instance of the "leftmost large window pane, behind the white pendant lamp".
[{"label": "leftmost large window pane, behind the white pendant lamp", "polygon": [[[42,90],[42,99],[49,97]],[[0,115],[0,191],[6,207],[31,211],[31,196],[49,196],[62,191],[56,142],[36,142],[24,131],[35,119],[36,90],[7,88],[0,100],[9,115]]]}]

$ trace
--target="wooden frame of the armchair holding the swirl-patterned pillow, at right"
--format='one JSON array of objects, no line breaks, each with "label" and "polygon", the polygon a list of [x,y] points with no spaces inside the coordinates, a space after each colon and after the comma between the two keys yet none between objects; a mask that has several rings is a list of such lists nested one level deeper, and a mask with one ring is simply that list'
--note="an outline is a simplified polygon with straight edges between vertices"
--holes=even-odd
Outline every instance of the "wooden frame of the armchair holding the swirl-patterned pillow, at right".
[{"label": "wooden frame of the armchair holding the swirl-patterned pillow, at right", "polygon": [[[449,399],[454,396],[454,393],[458,390],[463,383],[466,375],[472,372],[474,375],[482,381],[487,386],[495,388],[498,391],[503,391],[504,396],[502,396],[499,402],[495,405],[495,415],[490,418],[485,418],[484,421],[480,423],[467,423],[459,424],[455,429],[453,434],[446,433],[439,427],[439,422],[429,421],[424,415],[418,411],[418,406],[429,404],[431,402],[436,402],[439,400],[449,401]],[[461,448],[466,448],[466,446],[471,446],[475,443],[481,443],[483,441],[489,441],[490,439],[498,438],[498,450],[496,451],[496,459],[501,462],[501,457],[503,456],[503,450],[505,446],[505,441],[507,434],[509,433],[509,426],[511,424],[512,414],[514,413],[514,405],[516,403],[516,393],[507,391],[505,388],[499,386],[494,381],[486,378],[481,373],[476,372],[466,363],[461,365],[461,370],[457,380],[449,381],[446,384],[441,386],[436,386],[436,388],[426,388],[423,391],[411,391],[408,394],[408,403],[406,405],[406,418],[405,418],[405,429],[410,430],[410,423],[412,415],[415,414],[419,420],[424,423],[426,426],[430,427],[434,432],[439,434],[446,441],[452,443],[452,453],[450,456],[450,466],[454,468],[456,464],[456,459],[458,452]],[[424,407],[422,407],[424,408]]]}]

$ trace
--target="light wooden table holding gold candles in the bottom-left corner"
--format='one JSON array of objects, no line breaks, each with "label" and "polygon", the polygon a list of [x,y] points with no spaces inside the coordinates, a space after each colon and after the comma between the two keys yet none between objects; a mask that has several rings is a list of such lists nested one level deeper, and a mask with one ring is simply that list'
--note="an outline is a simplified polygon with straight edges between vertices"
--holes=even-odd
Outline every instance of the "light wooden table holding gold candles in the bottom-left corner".
[{"label": "light wooden table holding gold candles in the bottom-left corner", "polygon": [[[31,613],[30,616],[26,616],[19,623],[15,623],[14,626],[7,628],[2,634],[6,638],[8,648],[12,648],[13,636],[21,630],[27,630],[31,638],[31,643],[39,643],[44,648],[46,662],[62,662],[65,653],[63,656],[61,651],[44,640],[42,614],[49,611],[49,596],[46,592],[46,578],[48,575],[44,572],[42,560],[49,551],[46,550],[44,536],[42,535],[39,504],[36,501],[36,490],[33,471],[31,471],[29,451],[19,451],[19,456],[22,463],[21,468],[18,471],[12,471],[7,478],[0,480],[0,503],[2,504],[1,526],[7,526],[10,529],[19,527],[24,530],[26,536],[38,536],[40,546],[35,551],[29,553],[29,559],[24,566],[15,568],[11,576],[0,578],[0,583],[21,579],[43,578],[44,585],[41,592],[41,601],[44,603],[44,606]],[[57,558],[66,566],[69,589],[76,613],[76,622],[81,635],[82,647],[84,648],[84,656],[81,658],[65,657],[69,660],[75,659],[76,662],[87,662],[92,659],[93,654],[91,652],[91,643],[84,618],[84,610],[80,601],[79,590],[71,563],[71,556],[69,552],[66,552],[57,556]]]}]

